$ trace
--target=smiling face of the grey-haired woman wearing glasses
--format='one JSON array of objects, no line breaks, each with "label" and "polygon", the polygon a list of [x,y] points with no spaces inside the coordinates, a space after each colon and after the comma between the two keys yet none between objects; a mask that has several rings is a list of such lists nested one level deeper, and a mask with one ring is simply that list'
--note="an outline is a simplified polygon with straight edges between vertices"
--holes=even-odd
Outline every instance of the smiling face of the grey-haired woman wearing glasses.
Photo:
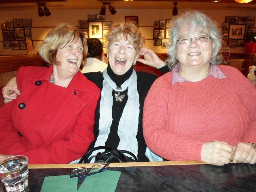
[{"label": "smiling face of the grey-haired woman wearing glasses", "polygon": [[[180,28],[178,39],[181,37],[196,37],[199,35],[208,35],[211,37],[208,29],[199,31],[196,27],[189,28],[183,26]],[[209,68],[212,58],[213,44],[211,39],[207,42],[198,43],[196,38],[193,38],[189,44],[179,44],[177,42],[175,53],[180,67],[202,67]]]}]

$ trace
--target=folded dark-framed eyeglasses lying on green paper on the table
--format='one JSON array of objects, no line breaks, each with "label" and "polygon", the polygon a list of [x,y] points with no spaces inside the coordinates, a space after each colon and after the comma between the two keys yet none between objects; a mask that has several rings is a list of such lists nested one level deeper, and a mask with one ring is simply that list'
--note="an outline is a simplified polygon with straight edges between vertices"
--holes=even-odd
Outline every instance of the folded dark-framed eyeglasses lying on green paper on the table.
[{"label": "folded dark-framed eyeglasses lying on green paper on the table", "polygon": [[[109,164],[110,164],[110,162],[95,164],[95,165],[92,166],[92,169],[90,169],[90,170],[88,170],[85,167],[80,167],[80,168],[72,170],[69,173],[69,177],[70,178],[74,178],[74,177],[81,178],[81,177],[87,177],[87,176],[90,176],[90,175],[95,175],[97,173],[107,171],[109,169]],[[91,170],[93,172],[90,172]]]}]

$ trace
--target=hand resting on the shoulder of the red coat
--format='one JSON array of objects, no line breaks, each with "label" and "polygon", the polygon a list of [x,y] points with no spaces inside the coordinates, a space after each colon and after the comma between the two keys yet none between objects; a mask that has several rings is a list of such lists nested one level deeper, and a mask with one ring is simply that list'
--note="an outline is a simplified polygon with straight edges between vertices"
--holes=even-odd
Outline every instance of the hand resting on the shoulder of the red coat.
[{"label": "hand resting on the shoulder of the red coat", "polygon": [[4,103],[9,103],[10,101],[16,99],[17,95],[20,95],[20,90],[17,88],[16,77],[13,77],[4,87],[3,87],[3,98]]}]

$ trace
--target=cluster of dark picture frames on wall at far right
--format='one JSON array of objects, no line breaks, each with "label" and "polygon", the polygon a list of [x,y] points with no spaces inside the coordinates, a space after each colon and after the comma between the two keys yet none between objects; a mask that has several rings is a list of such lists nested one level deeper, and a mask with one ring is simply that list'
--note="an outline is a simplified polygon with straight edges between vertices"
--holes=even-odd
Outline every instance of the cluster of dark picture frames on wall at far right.
[{"label": "cluster of dark picture frames on wall at far right", "polygon": [[222,46],[244,47],[245,37],[252,33],[255,17],[225,16],[222,23]]}]

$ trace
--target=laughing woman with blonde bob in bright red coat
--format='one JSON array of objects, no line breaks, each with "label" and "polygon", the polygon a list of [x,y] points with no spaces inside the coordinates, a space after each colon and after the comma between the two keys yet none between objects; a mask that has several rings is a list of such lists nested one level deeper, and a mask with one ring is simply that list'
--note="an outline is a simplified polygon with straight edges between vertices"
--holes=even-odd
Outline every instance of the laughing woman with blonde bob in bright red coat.
[{"label": "laughing woman with blonde bob in bright red coat", "polygon": [[38,49],[50,67],[21,67],[17,98],[0,108],[0,161],[25,155],[29,164],[66,164],[93,140],[99,88],[80,71],[86,37],[73,25],[53,28]]}]

